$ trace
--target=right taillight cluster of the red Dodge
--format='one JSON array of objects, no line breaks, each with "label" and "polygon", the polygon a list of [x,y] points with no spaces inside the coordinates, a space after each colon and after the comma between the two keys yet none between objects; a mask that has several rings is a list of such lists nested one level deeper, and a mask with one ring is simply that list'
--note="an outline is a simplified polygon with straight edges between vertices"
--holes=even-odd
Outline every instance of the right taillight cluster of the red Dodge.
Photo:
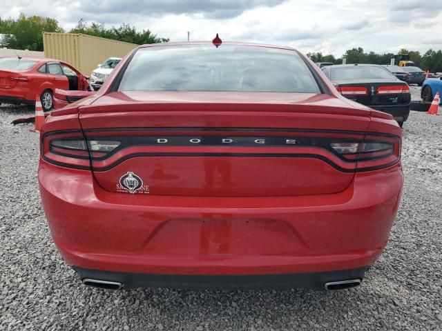
[{"label": "right taillight cluster of the red Dodge", "polygon": [[356,171],[387,168],[401,158],[401,139],[396,136],[367,134],[364,142],[331,143],[330,146],[345,159],[357,161]]}]

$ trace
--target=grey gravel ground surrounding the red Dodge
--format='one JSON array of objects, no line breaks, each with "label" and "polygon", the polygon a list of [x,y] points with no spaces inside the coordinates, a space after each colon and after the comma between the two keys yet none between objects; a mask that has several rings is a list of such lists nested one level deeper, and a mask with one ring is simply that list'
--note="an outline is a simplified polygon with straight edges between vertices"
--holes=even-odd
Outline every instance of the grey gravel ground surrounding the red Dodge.
[{"label": "grey gravel ground surrounding the red Dodge", "polygon": [[81,285],[50,239],[38,134],[9,124],[25,114],[0,108],[0,330],[442,330],[442,117],[405,123],[401,208],[361,287],[106,292]]}]

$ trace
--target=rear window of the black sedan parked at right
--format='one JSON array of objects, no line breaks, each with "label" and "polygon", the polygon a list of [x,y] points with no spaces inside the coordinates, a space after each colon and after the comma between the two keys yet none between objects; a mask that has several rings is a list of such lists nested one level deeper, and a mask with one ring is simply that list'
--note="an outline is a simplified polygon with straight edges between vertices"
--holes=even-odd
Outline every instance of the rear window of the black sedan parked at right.
[{"label": "rear window of the black sedan parked at right", "polygon": [[396,79],[396,77],[381,66],[351,66],[332,70],[333,81],[352,81],[355,79]]}]

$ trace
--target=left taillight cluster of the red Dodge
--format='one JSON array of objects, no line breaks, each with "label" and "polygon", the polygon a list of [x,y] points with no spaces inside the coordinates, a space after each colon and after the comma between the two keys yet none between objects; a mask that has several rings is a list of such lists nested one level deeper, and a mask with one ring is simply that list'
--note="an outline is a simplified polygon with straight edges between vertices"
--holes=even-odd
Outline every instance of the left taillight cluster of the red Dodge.
[{"label": "left taillight cluster of the red Dodge", "polygon": [[75,169],[90,169],[90,155],[106,157],[119,146],[119,141],[88,141],[80,130],[49,132],[41,140],[41,157],[49,163]]}]

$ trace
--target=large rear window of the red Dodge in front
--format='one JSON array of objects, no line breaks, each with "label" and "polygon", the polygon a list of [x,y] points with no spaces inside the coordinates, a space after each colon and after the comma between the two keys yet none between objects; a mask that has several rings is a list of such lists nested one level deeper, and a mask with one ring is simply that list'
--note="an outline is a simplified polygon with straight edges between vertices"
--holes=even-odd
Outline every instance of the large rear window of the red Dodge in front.
[{"label": "large rear window of the red Dodge in front", "polygon": [[140,48],[119,90],[320,92],[297,52],[233,45]]}]

